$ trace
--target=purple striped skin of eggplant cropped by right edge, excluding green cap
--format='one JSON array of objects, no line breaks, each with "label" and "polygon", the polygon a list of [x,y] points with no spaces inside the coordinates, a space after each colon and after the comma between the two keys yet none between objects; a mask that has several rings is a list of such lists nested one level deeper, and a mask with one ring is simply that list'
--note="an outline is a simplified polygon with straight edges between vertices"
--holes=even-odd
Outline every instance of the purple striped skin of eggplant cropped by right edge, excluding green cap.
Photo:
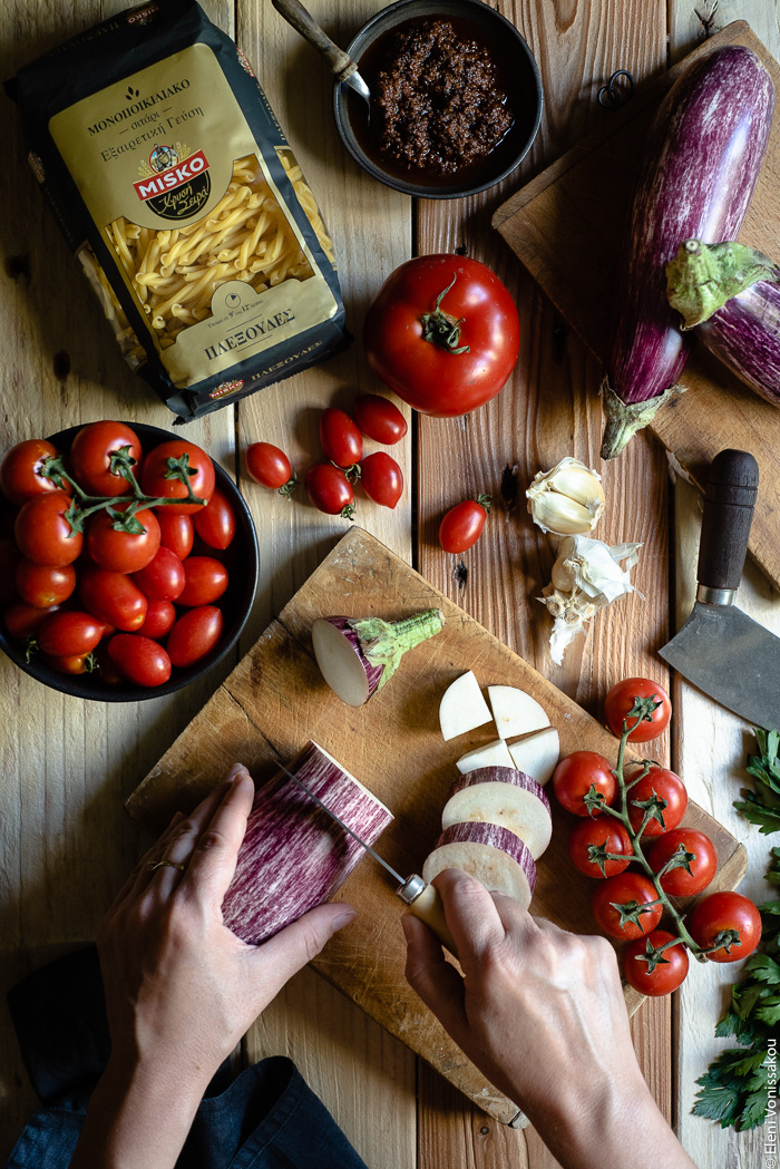
[{"label": "purple striped skin of eggplant cropped by right edge, excluding green cap", "polygon": [[693,333],[746,386],[780,406],[780,284],[758,281]]}]

